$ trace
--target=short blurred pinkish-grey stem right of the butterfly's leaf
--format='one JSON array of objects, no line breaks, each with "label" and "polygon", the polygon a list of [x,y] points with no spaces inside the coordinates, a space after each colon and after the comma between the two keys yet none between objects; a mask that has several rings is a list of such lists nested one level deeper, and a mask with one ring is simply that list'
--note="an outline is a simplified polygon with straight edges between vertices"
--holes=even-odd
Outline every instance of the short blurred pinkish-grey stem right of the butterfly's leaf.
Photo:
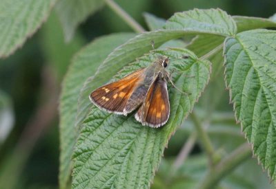
[{"label": "short blurred pinkish-grey stem right of the butterfly's leaf", "polygon": [[195,146],[196,140],[197,140],[197,133],[193,132],[190,135],[190,137],[188,137],[187,142],[181,148],[179,155],[177,155],[177,158],[175,159],[175,163],[173,164],[173,166],[175,167],[175,170],[177,170],[184,163],[184,161],[190,154],[190,151],[193,149],[193,146]]}]

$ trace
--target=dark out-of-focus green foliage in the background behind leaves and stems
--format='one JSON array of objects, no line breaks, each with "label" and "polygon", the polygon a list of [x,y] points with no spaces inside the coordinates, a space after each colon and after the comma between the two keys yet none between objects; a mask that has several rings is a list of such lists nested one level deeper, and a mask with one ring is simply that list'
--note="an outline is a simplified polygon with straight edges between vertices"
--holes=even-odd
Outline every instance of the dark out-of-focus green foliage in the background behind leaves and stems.
[{"label": "dark out-of-focus green foliage in the background behind leaves and stems", "polygon": [[[275,0],[116,2],[144,28],[147,28],[144,12],[168,19],[174,12],[193,8],[221,8],[231,15],[267,18],[276,10]],[[58,187],[59,121],[57,109],[47,104],[54,100],[58,106],[57,91],[72,56],[98,36],[114,32],[132,30],[117,14],[104,7],[81,24],[70,43],[65,43],[57,14],[52,11],[48,21],[21,49],[0,60],[0,188]],[[240,126],[235,124],[228,91],[219,77],[222,74],[213,77],[195,109],[200,119],[208,122],[210,138],[219,149],[218,157],[224,157],[246,140]],[[37,111],[45,113],[38,117]],[[211,118],[210,112],[214,112]],[[36,127],[37,122],[40,128]],[[193,125],[187,120],[170,140],[152,188],[189,188],[204,175],[208,162],[198,144],[183,165],[172,169],[191,135],[194,135]],[[273,188],[273,185],[257,165],[257,159],[248,159],[220,187]]]}]

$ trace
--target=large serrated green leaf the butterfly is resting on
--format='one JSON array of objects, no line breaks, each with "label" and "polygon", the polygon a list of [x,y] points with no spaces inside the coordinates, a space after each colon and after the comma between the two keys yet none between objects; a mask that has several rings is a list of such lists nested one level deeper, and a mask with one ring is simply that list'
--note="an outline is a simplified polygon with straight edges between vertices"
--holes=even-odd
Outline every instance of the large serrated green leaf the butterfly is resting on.
[{"label": "large serrated green leaf the butterfly is resting on", "polygon": [[[169,56],[169,71],[177,70],[172,80],[191,95],[169,87],[170,119],[161,129],[141,126],[133,114],[116,115],[90,105],[92,109],[83,122],[74,151],[73,188],[148,188],[170,135],[192,111],[210,75],[207,60],[199,60],[186,49],[168,49],[140,58],[115,78],[146,67],[159,54]],[[179,59],[184,54],[190,58]]]}]

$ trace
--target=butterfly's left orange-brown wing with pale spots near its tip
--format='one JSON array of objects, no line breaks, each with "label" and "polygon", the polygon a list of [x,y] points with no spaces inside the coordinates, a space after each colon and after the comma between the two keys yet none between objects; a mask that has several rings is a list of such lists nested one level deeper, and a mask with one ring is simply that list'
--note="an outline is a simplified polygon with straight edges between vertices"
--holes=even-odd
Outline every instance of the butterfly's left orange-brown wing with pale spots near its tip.
[{"label": "butterfly's left orange-brown wing with pale spots near its tip", "polygon": [[108,112],[126,114],[124,113],[126,102],[144,80],[143,73],[144,69],[139,69],[121,80],[99,87],[90,94],[91,102]]}]

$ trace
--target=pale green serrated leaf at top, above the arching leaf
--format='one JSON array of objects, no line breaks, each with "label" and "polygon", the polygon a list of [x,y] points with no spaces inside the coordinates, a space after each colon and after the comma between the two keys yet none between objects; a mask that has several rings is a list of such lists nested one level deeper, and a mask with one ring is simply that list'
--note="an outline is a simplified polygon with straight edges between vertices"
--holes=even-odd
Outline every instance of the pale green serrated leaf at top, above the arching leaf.
[{"label": "pale green serrated leaf at top, above the arching leaf", "polygon": [[179,30],[209,30],[223,36],[233,36],[237,32],[235,21],[220,9],[177,12],[168,19],[165,27]]}]

